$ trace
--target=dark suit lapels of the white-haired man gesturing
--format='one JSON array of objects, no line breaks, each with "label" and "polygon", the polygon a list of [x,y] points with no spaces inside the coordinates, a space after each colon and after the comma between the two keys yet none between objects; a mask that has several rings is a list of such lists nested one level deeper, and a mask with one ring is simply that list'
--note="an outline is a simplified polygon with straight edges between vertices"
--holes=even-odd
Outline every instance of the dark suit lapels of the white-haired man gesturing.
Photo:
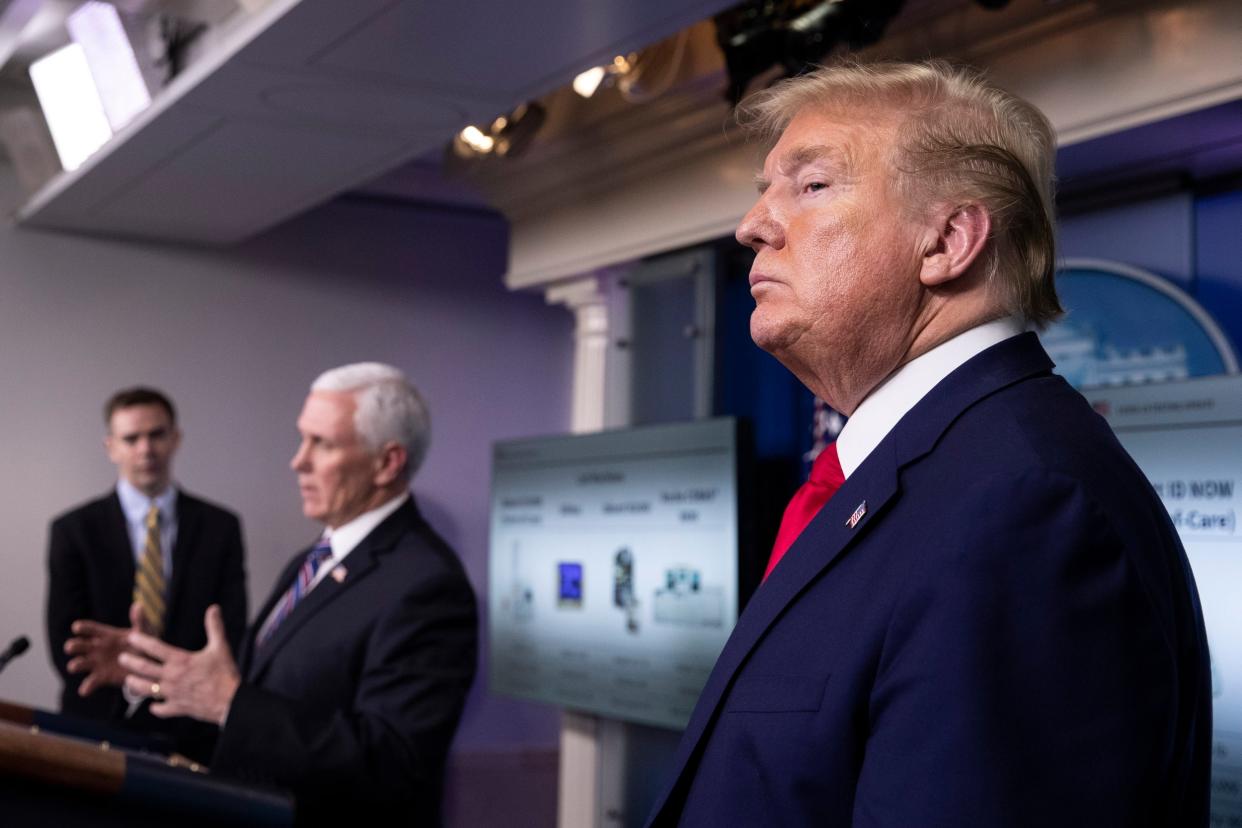
[{"label": "dark suit lapels of the white-haired man gesturing", "polygon": [[[417,509],[414,506],[414,500],[409,500],[395,513],[384,519],[384,521],[376,526],[370,535],[363,539],[363,541],[345,556],[345,560],[338,564],[338,566],[344,567],[347,575],[342,580],[337,580],[332,575],[328,575],[322,581],[319,581],[309,595],[298,602],[298,606],[293,608],[289,617],[281,622],[281,626],[276,628],[272,633],[270,641],[265,642],[262,647],[253,649],[252,652],[252,664],[247,670],[246,675],[251,680],[258,679],[267,665],[272,662],[272,658],[283,648],[301,629],[306,623],[318,614],[324,607],[332,605],[332,602],[343,595],[347,590],[354,588],[355,585],[360,583],[364,578],[370,576],[374,570],[379,566],[379,557],[383,552],[392,547],[396,540],[405,531],[405,528],[411,520],[411,516],[417,518]],[[302,566],[302,557],[299,555],[296,564],[289,567],[288,576],[284,580],[284,585],[273,592],[273,596],[268,600],[263,608],[263,613],[256,618],[255,631],[257,632],[265,621],[267,621],[271,608],[276,605],[276,601],[284,595],[289,585],[293,582],[293,577]],[[253,642],[251,642],[253,648]]]}]

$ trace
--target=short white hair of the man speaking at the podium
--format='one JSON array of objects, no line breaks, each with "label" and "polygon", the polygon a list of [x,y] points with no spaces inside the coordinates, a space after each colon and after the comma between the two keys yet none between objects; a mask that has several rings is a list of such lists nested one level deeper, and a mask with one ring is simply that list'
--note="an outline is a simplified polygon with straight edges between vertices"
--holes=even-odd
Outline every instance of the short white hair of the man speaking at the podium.
[{"label": "short white hair of the man speaking at the podium", "polygon": [[431,413],[399,369],[383,362],[354,362],[320,374],[312,391],[350,391],[358,408],[354,428],[363,443],[378,452],[394,442],[406,452],[405,477],[410,479],[422,466],[431,442]]}]

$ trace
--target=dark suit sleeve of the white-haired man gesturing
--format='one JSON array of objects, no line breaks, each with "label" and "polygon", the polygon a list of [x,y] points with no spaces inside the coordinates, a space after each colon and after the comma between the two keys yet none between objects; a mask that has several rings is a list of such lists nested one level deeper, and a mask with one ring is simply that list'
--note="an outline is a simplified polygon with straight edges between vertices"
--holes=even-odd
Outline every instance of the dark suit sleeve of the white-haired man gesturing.
[{"label": "dark suit sleeve of the white-haired man gesturing", "polygon": [[424,581],[379,619],[354,699],[339,709],[317,715],[242,684],[212,770],[291,787],[299,803],[334,791],[370,802],[437,792],[473,679],[476,629],[463,577]]}]

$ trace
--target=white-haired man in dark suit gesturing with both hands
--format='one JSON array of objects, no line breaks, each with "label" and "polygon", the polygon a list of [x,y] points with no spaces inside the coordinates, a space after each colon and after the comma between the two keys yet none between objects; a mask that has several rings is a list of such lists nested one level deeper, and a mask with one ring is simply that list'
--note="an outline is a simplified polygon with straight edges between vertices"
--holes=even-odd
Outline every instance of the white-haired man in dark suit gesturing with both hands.
[{"label": "white-haired man in dark suit gesturing with both hands", "polygon": [[474,675],[474,593],[410,479],[430,421],[397,370],[314,381],[293,456],[323,525],[289,561],[237,662],[219,610],[207,646],[130,636],[125,685],[156,716],[220,726],[214,773],[291,788],[299,824],[438,824],[445,761]]}]

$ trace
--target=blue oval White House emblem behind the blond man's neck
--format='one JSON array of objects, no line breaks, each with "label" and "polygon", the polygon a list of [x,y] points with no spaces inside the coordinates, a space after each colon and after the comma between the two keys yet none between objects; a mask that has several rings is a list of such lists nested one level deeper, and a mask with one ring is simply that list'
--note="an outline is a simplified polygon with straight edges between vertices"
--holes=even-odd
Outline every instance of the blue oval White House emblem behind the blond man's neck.
[{"label": "blue oval White House emblem behind the blond man's neck", "polygon": [[1057,271],[1066,315],[1040,334],[1076,389],[1236,374],[1220,326],[1185,290],[1148,271],[1068,259]]}]

